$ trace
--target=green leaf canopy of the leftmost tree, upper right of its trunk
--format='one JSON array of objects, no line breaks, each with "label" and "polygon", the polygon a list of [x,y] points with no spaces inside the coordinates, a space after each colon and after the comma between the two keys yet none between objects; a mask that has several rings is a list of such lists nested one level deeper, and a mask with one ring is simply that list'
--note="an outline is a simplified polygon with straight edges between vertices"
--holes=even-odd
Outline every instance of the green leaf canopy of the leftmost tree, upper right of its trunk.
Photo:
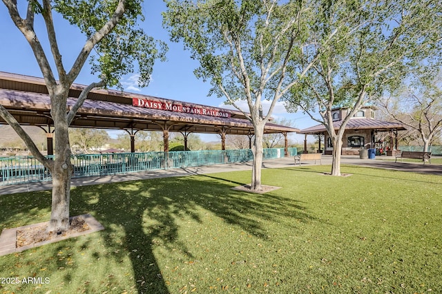
[{"label": "green leaf canopy of the leftmost tree, upper right of its trunk", "polygon": [[[101,30],[115,11],[117,1],[57,0],[54,10],[83,32],[88,39]],[[151,78],[155,59],[165,59],[167,46],[162,41],[144,33],[140,23],[144,21],[142,1],[125,1],[124,18],[95,45],[91,56],[92,73],[98,73],[109,87],[118,86],[121,77],[139,73],[140,87],[146,87]],[[137,66],[137,67],[136,67]]]}]

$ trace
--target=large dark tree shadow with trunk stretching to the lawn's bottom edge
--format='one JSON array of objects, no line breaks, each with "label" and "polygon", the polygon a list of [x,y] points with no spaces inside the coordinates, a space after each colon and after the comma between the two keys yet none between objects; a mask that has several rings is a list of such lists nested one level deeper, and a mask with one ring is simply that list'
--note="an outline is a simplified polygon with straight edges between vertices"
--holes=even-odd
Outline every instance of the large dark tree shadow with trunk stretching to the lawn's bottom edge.
[{"label": "large dark tree shadow with trunk stretching to the lawn's bottom edge", "polygon": [[[262,239],[268,238],[262,222],[285,218],[295,224],[312,219],[296,200],[276,193],[250,196],[231,189],[234,185],[222,178],[202,176],[120,182],[100,185],[94,204],[89,202],[90,188],[79,187],[73,190],[71,207],[76,212],[72,214],[95,211],[95,218],[106,228],[102,232],[106,246],[116,252],[114,257],[130,256],[138,293],[169,293],[154,249],[162,246],[167,252],[178,250],[189,260],[193,258],[180,242],[177,219],[202,223],[204,209]],[[124,231],[123,244],[113,238],[115,228]]]}]

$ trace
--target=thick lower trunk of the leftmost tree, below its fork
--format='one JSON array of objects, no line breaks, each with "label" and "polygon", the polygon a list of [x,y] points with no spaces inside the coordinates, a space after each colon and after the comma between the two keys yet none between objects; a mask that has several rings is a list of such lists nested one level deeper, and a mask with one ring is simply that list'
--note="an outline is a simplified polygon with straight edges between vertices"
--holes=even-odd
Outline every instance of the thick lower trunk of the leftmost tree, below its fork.
[{"label": "thick lower trunk of the leftmost tree, below its fork", "polygon": [[[66,94],[51,97],[56,100],[65,100]],[[51,99],[51,100],[52,100]],[[55,129],[55,162],[52,168],[52,211],[48,231],[66,231],[69,224],[70,178],[73,165],[70,162],[70,143],[68,120],[66,116],[66,102],[52,103],[52,118]]]}]

